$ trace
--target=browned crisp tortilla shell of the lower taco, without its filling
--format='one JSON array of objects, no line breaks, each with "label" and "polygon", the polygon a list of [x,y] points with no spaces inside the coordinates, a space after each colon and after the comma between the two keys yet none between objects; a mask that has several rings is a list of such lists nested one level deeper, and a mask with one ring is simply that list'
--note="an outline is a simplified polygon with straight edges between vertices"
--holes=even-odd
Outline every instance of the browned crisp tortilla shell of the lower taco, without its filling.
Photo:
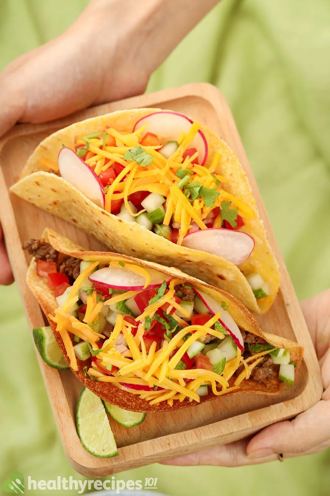
[{"label": "browned crisp tortilla shell of the lower taco, without its filling", "polygon": [[[139,260],[137,258],[128,257],[125,255],[120,255],[117,253],[111,252],[102,252],[102,251],[83,251],[83,248],[77,246],[72,241],[67,238],[60,236],[55,233],[51,229],[46,229],[41,237],[48,243],[51,244],[53,248],[55,248],[60,253],[64,253],[65,255],[81,258],[82,260],[93,260],[100,261],[102,263],[109,263],[112,260],[118,261],[129,261],[136,264],[139,264],[141,267],[152,268],[159,272],[162,272],[166,278],[170,276],[171,278],[180,278],[190,285],[193,285],[197,289],[204,291],[208,295],[212,296],[215,300],[220,302],[225,301],[226,305],[228,305],[228,312],[236,321],[237,325],[248,332],[251,332],[257,336],[262,337],[268,343],[274,345],[277,348],[289,348],[291,360],[296,363],[296,370],[301,365],[302,357],[303,357],[303,347],[289,341],[280,336],[276,336],[274,334],[269,334],[263,332],[253,315],[239,302],[228,293],[225,293],[221,289],[213,288],[212,286],[195,279],[187,274],[184,274],[178,269],[168,268],[157,263],[153,262],[145,262]],[[42,310],[45,315],[49,313],[54,314],[54,310],[58,308],[57,302],[51,290],[48,288],[47,281],[45,278],[42,278],[36,273],[36,261],[33,258],[28,272],[27,272],[27,284],[32,291],[33,295],[37,299],[40,304]],[[56,332],[56,324],[49,320],[50,326],[54,332],[57,343],[66,359],[68,364],[70,365],[70,361],[65,351],[65,347],[63,341],[60,337],[60,334]],[[91,391],[93,391],[97,396],[101,397],[105,401],[108,401],[111,404],[117,405],[120,408],[124,408],[126,410],[138,411],[138,412],[157,412],[164,410],[175,410],[177,408],[185,408],[188,406],[198,405],[203,403],[204,401],[209,401],[216,399],[215,395],[201,396],[200,403],[195,401],[189,402],[189,399],[186,398],[184,401],[179,402],[175,401],[173,406],[170,406],[166,401],[159,403],[159,405],[150,405],[148,401],[140,398],[138,394],[130,393],[127,390],[120,389],[114,384],[109,382],[98,382],[91,379],[89,376],[85,376],[83,372],[83,367],[90,364],[90,360],[81,361],[77,359],[78,371],[73,371],[76,377],[85,384]],[[232,377],[229,380],[230,386],[234,384],[235,377]],[[124,382],[124,378],[123,378]],[[278,377],[272,377],[268,379],[267,385],[256,382],[252,379],[244,379],[241,382],[239,389],[234,391],[230,391],[222,396],[229,396],[231,394],[238,393],[256,393],[256,394],[267,394],[274,395],[278,394],[283,387],[286,387],[282,383],[279,382]]]}]

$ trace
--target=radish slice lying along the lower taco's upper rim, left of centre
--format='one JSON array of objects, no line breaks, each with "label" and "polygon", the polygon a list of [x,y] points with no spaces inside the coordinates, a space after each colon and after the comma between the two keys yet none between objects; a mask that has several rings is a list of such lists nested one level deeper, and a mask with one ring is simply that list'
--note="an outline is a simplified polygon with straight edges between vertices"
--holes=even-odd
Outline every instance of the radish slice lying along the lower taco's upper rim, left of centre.
[{"label": "radish slice lying along the lower taco's upper rim, left of centre", "polygon": [[[148,289],[161,286],[164,281],[164,274],[152,269],[145,269],[150,275],[150,284]],[[124,267],[104,267],[96,270],[89,276],[89,280],[106,288],[113,288],[127,291],[141,291],[143,289],[145,278]],[[146,289],[146,288],[145,288]]]}]

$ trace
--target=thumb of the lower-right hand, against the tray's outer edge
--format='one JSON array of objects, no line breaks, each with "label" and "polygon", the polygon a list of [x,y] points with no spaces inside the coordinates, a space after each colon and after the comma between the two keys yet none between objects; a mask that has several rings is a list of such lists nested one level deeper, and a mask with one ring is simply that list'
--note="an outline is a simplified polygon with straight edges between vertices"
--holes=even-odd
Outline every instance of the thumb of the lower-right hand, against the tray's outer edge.
[{"label": "thumb of the lower-right hand, against the tray's outer edge", "polygon": [[330,401],[321,400],[294,420],[279,422],[255,435],[246,448],[250,460],[272,454],[302,455],[330,446]]}]

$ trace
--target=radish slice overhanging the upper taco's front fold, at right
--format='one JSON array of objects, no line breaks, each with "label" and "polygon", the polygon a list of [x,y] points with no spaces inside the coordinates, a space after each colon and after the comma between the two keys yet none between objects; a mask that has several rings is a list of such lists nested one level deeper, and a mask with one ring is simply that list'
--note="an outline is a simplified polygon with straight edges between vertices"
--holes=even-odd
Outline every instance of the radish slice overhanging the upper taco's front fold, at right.
[{"label": "radish slice overhanging the upper taco's front fold, at right", "polygon": [[187,234],[182,241],[183,247],[222,256],[235,265],[248,259],[254,245],[254,239],[250,235],[222,228],[195,231]]}]

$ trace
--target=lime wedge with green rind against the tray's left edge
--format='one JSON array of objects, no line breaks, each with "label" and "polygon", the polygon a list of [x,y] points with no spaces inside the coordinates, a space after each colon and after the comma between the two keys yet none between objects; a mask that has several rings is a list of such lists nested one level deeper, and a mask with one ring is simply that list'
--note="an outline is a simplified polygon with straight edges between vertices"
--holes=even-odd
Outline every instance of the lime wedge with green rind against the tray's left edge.
[{"label": "lime wedge with green rind against the tray's left edge", "polygon": [[54,369],[69,369],[51,327],[36,327],[32,332],[35,345],[44,362]]}]

